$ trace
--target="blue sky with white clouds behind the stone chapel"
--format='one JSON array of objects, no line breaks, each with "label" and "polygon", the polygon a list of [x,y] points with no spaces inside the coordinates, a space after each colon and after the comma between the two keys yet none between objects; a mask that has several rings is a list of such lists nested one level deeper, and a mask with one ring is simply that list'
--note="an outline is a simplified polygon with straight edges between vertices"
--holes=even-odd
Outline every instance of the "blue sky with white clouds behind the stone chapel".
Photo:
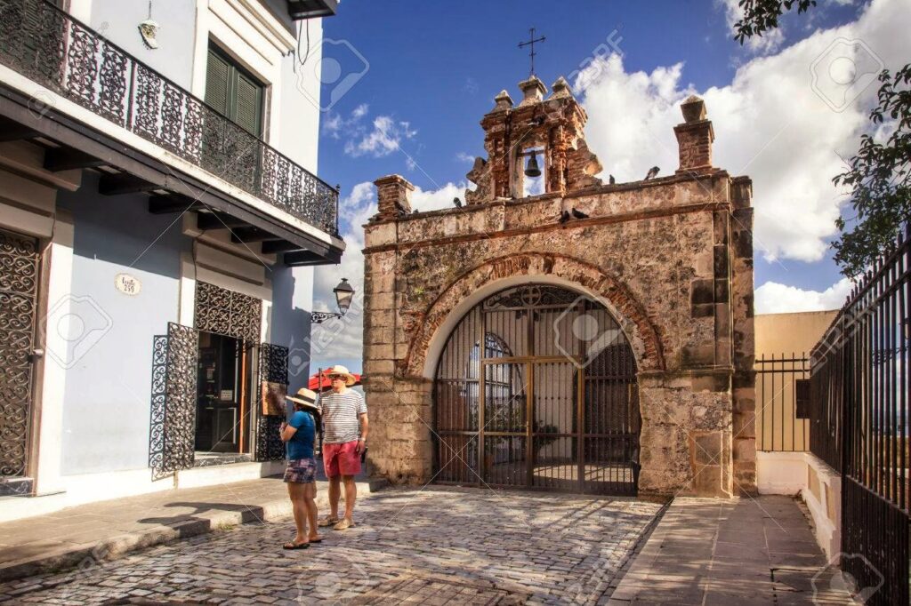
[{"label": "blue sky with white clouds behind the stone chapel", "polygon": [[[813,70],[819,57],[829,65],[842,52],[843,38],[861,40],[858,53],[868,49],[853,57],[858,71],[906,62],[907,2],[820,0],[809,15],[786,15],[781,30],[745,48],[732,39],[736,4],[343,0],[338,15],[323,21],[323,79],[333,79],[336,66],[342,77],[323,86],[323,105],[332,106],[322,114],[319,174],[342,185],[350,252],[342,268],[318,270],[315,307],[334,307],[328,291],[340,272],[363,264],[353,249],[372,212],[375,178],[404,175],[418,187],[422,209],[464,190],[471,157],[483,152],[478,121],[501,89],[520,95],[528,58],[517,43],[531,26],[547,36],[537,46],[537,75],[548,86],[569,77],[589,113],[589,146],[619,181],[640,179],[653,164],[664,175],[676,168],[671,128],[681,122],[679,103],[703,96],[715,127],[713,164],[754,180],[759,311],[838,307],[846,286],[826,246],[845,198],[831,178],[839,157],[855,151],[875,83],[851,88],[846,101],[826,100]],[[333,99],[343,76],[361,72]],[[359,347],[359,330],[346,327],[349,338],[325,355],[359,367],[359,351],[343,355]]]}]

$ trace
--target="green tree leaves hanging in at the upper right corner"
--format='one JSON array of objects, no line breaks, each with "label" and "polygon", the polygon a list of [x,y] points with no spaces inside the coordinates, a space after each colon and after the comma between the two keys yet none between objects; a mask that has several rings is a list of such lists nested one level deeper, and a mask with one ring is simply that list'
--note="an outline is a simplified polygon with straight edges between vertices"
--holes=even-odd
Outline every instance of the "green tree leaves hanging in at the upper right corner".
[{"label": "green tree leaves hanging in at the upper right corner", "polygon": [[[778,27],[784,11],[797,5],[803,13],[815,0],[741,0],[743,18],[734,25],[734,39],[743,44],[752,35]],[[835,262],[842,273],[855,278],[896,242],[903,224],[911,218],[911,64],[895,76],[879,75],[878,105],[870,121],[888,135],[877,143],[873,135],[861,136],[860,148],[848,160],[848,169],[833,178],[835,185],[851,188],[855,217],[851,226],[843,217],[835,221],[841,236],[834,241]]]}]

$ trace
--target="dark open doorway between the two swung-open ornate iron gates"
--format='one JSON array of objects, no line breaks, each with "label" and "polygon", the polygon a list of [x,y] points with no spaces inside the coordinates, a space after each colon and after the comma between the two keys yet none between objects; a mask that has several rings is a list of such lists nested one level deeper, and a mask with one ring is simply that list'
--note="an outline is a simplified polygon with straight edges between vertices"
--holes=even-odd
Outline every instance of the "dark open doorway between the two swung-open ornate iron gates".
[{"label": "dark open doorway between the two swung-open ornate iron gates", "polygon": [[200,331],[196,460],[250,452],[251,352],[239,338]]}]

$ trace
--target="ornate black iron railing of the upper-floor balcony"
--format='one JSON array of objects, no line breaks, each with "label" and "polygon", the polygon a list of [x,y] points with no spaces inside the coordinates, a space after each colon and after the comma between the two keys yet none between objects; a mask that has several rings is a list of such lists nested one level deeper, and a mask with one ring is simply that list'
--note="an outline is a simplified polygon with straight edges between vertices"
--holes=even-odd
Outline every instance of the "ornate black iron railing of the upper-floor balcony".
[{"label": "ornate black iron railing of the upper-floor balcony", "polygon": [[46,0],[0,0],[0,63],[338,235],[338,191]]}]

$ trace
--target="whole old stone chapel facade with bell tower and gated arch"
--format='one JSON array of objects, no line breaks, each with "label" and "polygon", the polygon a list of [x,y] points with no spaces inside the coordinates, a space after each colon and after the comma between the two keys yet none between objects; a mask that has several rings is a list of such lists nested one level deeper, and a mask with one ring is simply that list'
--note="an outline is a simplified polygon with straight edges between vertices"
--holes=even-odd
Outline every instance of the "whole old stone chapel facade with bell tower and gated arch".
[{"label": "whole old stone chapel facade with bell tower and gated arch", "polygon": [[[519,86],[521,102],[503,91],[481,121],[487,157],[467,175],[465,206],[413,213],[404,177],[375,182],[363,349],[374,472],[583,491],[603,473],[609,493],[622,481],[634,494],[753,492],[750,178],[712,166],[714,131],[691,96],[674,127],[675,172],[603,183],[566,80],[549,96],[535,76]],[[525,181],[532,156],[537,195]],[[519,307],[490,307],[503,292]],[[559,303],[561,293],[589,302]],[[607,349],[588,367],[584,351],[559,361],[536,327],[558,328],[561,305],[576,317],[601,309],[615,327],[607,349],[628,352],[625,379],[625,358]],[[513,328],[465,328],[472,314]],[[477,337],[463,347],[457,331]]]}]

